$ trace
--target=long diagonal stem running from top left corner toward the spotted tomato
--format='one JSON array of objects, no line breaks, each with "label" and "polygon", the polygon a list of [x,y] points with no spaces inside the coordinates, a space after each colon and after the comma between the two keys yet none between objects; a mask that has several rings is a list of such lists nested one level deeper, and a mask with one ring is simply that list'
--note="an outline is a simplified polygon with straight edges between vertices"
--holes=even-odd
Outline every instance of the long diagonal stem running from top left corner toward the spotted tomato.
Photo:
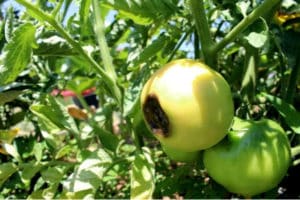
[{"label": "long diagonal stem running from top left corner toward the spotted tomato", "polygon": [[81,47],[81,45],[75,41],[68,32],[65,31],[65,29],[49,14],[41,11],[31,3],[27,2],[26,0],[16,0],[19,4],[26,7],[28,10],[32,11],[36,16],[38,16],[38,20],[46,21],[48,22],[58,33],[64,37],[67,42],[72,45],[72,47],[83,56],[85,60],[87,60],[91,66],[93,66],[94,70],[98,75],[103,78],[105,84],[110,89],[110,92],[112,95],[116,98],[118,103],[121,103],[121,91],[119,87],[117,86],[115,80],[108,74],[109,72],[106,72],[103,70],[98,63],[95,62]]}]

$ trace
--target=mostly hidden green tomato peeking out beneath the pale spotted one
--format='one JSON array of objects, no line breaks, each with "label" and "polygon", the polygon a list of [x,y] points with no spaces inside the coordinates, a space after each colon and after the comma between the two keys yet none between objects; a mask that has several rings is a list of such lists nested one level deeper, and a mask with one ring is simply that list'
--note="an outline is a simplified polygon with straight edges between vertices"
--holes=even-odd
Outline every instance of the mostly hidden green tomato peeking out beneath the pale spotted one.
[{"label": "mostly hidden green tomato peeking out beneath the pale spotted one", "polygon": [[194,162],[199,157],[199,151],[185,152],[164,145],[162,145],[162,149],[171,160],[178,162]]}]

